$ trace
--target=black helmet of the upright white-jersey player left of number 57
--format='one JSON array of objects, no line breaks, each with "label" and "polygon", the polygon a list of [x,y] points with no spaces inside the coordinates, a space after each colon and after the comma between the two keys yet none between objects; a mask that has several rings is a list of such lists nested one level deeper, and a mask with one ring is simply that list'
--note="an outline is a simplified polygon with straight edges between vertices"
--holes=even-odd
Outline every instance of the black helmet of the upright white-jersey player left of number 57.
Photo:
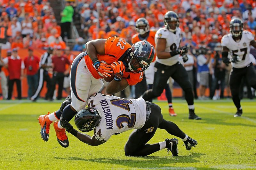
[{"label": "black helmet of the upright white-jersey player left of number 57", "polygon": [[175,32],[180,25],[179,16],[174,11],[168,11],[164,14],[165,28],[171,32]]}]

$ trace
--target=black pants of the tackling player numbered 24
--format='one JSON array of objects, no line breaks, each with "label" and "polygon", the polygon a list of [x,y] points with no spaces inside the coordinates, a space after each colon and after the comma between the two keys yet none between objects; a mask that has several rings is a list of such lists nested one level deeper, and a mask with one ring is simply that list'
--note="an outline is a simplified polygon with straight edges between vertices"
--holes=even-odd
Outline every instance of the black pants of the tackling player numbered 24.
[{"label": "black pants of the tackling player numbered 24", "polygon": [[160,150],[159,143],[147,144],[154,136],[156,129],[165,129],[169,134],[185,138],[185,133],[173,122],[166,121],[161,113],[161,108],[155,103],[150,103],[151,113],[147,122],[141,129],[134,129],[124,146],[126,156],[147,156]]}]

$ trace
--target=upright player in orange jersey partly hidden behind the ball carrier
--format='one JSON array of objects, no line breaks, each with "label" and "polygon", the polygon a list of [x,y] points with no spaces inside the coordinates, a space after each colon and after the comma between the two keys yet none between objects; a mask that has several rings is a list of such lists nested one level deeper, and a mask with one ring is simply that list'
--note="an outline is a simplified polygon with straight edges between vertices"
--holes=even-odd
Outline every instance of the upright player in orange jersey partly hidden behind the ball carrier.
[{"label": "upright player in orange jersey partly hidden behind the ball carrier", "polygon": [[[156,44],[155,44],[156,31],[149,29],[149,23],[148,23],[147,19],[139,18],[136,21],[136,31],[138,33],[136,33],[135,35],[132,36],[132,44],[134,44],[138,41],[147,40],[154,47],[156,46]],[[154,75],[155,75],[155,72],[154,72],[154,66],[156,63],[155,60],[156,60],[156,53],[155,53],[152,63],[150,64],[148,69],[145,70],[145,76],[143,77],[142,81],[135,85],[135,98],[139,98],[146,90],[152,89]],[[167,82],[167,84],[165,86],[165,96],[167,98],[167,102],[169,105],[169,115],[177,116],[177,114],[174,112],[174,109],[172,107],[172,92],[169,87],[169,81]],[[152,102],[152,99],[149,101]]]}]

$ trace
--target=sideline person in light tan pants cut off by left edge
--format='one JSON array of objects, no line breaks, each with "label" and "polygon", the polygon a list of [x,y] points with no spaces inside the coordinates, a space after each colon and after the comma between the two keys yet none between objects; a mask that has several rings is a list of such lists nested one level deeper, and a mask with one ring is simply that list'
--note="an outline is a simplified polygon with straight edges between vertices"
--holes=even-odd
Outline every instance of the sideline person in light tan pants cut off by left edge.
[{"label": "sideline person in light tan pants cut off by left edge", "polygon": [[[1,50],[0,50],[0,52],[1,52]],[[11,51],[10,50],[7,51],[6,58],[8,58],[8,56],[11,56]],[[2,90],[3,99],[7,99],[7,97],[8,97],[7,78],[6,78],[5,73],[4,73],[3,69],[2,69],[4,66],[5,66],[5,64],[4,64],[3,58],[2,58],[2,56],[0,54],[1,90]]]}]

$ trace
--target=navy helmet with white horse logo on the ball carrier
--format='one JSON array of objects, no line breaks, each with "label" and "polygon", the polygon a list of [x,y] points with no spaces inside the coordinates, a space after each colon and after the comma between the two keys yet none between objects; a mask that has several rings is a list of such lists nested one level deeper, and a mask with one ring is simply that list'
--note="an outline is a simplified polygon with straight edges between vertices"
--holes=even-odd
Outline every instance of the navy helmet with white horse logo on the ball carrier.
[{"label": "navy helmet with white horse logo on the ball carrier", "polygon": [[155,48],[148,41],[143,40],[134,43],[127,55],[129,71],[140,73],[146,70],[153,61]]}]

